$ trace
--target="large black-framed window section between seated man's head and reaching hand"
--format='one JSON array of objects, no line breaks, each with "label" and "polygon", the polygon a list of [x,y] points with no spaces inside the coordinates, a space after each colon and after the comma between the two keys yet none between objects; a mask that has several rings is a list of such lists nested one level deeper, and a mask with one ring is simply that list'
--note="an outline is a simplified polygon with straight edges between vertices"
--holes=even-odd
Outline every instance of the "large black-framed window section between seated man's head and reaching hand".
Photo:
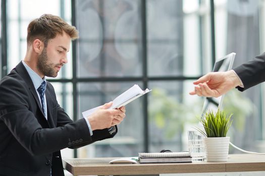
[{"label": "large black-framed window section between seated man's head and reaching hand", "polygon": [[115,138],[78,149],[78,156],[186,147],[183,134],[203,100],[188,96],[189,79],[211,68],[209,10],[209,1],[75,1],[77,117],[133,84],[153,90],[126,106]]}]

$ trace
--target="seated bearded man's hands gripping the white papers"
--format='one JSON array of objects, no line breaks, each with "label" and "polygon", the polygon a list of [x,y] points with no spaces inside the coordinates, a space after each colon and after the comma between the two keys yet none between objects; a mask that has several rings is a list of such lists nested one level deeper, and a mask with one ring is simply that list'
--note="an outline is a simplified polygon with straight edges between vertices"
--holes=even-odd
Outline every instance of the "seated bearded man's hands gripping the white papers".
[{"label": "seated bearded man's hands gripping the white papers", "polygon": [[97,111],[88,116],[91,129],[99,130],[110,128],[111,126],[120,124],[125,117],[125,107],[119,109],[108,109],[112,106],[112,102],[106,103],[99,107]]}]

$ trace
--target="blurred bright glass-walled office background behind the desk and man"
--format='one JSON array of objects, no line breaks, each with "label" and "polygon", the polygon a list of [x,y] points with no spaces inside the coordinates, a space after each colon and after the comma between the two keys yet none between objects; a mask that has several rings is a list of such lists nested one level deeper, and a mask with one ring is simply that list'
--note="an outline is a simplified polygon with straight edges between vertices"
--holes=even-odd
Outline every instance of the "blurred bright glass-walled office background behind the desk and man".
[{"label": "blurred bright glass-walled office background behind the desk and man", "polygon": [[[198,124],[204,102],[188,94],[192,82],[231,52],[236,53],[235,67],[265,51],[263,0],[0,2],[0,77],[24,58],[32,19],[54,14],[78,29],[68,63],[56,78],[48,78],[73,120],[134,84],[152,90],[126,106],[113,139],[63,149],[68,158],[188,150],[187,130]],[[224,98],[224,109],[234,114],[230,140],[245,150],[265,152],[264,90],[261,83],[243,93],[232,90]],[[229,153],[241,152],[230,147]]]}]

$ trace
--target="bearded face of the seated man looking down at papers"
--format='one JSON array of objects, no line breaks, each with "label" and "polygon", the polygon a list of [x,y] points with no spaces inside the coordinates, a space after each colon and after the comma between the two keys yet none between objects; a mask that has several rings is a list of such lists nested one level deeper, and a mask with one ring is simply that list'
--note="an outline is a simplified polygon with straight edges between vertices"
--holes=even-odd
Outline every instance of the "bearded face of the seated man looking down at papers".
[{"label": "bearded face of the seated man looking down at papers", "polygon": [[37,69],[48,77],[56,77],[61,67],[67,63],[67,52],[70,48],[71,38],[67,34],[57,35],[48,41],[38,56]]}]

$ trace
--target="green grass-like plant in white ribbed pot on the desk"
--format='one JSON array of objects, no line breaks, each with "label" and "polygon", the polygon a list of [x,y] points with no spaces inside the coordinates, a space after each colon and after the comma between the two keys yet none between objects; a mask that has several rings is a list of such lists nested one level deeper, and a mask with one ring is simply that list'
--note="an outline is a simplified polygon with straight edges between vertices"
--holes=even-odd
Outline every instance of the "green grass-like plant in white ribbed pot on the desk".
[{"label": "green grass-like plant in white ribbed pot on the desk", "polygon": [[208,162],[227,161],[230,137],[227,132],[232,125],[230,114],[218,109],[217,112],[208,110],[199,119],[204,131],[198,129],[204,136],[205,155]]}]

